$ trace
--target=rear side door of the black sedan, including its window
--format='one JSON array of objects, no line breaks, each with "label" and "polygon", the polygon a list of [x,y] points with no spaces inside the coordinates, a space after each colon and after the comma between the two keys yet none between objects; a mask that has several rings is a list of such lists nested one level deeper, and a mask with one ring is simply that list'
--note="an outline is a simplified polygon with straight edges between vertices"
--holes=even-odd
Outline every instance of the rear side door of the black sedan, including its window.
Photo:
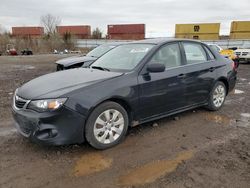
[{"label": "rear side door of the black sedan, including its window", "polygon": [[186,59],[185,96],[187,105],[192,106],[207,101],[216,78],[215,58],[203,44],[182,42]]}]

